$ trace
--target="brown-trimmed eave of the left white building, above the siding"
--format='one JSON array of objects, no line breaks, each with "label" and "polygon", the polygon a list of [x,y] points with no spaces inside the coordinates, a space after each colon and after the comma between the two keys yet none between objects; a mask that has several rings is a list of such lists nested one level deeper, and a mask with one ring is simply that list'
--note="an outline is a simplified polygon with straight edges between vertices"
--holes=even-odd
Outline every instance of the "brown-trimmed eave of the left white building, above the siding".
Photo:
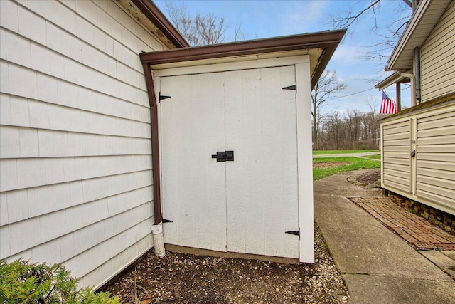
[{"label": "brown-trimmed eave of the left white building, above the siding", "polygon": [[189,46],[185,38],[151,0],[117,0],[117,2],[168,48]]}]

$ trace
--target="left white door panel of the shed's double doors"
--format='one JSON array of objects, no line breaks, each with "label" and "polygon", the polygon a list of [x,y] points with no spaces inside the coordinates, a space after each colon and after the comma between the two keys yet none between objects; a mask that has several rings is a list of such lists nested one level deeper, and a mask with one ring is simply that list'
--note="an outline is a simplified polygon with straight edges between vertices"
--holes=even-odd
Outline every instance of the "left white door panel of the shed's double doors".
[{"label": "left white door panel of the shed's double doors", "polygon": [[161,78],[161,165],[166,243],[226,250],[225,150],[220,75]]}]

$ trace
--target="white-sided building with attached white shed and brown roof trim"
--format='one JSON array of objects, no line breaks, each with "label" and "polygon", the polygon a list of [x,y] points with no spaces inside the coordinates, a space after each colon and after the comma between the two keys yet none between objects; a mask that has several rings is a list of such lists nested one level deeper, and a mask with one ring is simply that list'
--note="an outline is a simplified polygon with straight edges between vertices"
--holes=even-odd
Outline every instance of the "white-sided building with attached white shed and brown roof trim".
[{"label": "white-sided building with attached white shed and brown roof trim", "polygon": [[169,243],[314,261],[310,92],[345,31],[189,48],[149,0],[0,11],[2,260],[98,287],[161,247],[163,197]]}]

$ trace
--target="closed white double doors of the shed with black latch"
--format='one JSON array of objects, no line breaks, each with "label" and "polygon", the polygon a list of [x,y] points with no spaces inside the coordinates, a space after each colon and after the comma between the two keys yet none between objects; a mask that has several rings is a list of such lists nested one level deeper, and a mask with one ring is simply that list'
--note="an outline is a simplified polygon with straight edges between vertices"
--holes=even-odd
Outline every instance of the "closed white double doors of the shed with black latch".
[{"label": "closed white double doors of the shed with black latch", "polygon": [[295,83],[294,65],[161,78],[166,243],[299,258]]}]

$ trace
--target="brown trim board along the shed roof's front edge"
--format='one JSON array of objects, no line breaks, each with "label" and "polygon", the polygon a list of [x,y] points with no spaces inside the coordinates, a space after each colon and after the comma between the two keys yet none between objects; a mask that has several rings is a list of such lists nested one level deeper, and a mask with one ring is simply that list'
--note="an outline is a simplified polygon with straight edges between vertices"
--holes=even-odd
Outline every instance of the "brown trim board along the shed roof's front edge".
[{"label": "brown trim board along the shed roof's front edge", "polygon": [[[139,1],[139,0],[136,0]],[[197,46],[193,48],[177,48],[166,51],[141,53],[141,62],[150,65],[163,63],[176,63],[183,61],[196,61],[232,56],[245,56],[260,53],[279,51],[295,51],[309,48],[323,48],[323,55],[314,75],[311,75],[311,88],[326,68],[326,65],[336,47],[343,38],[346,30],[323,31],[318,33],[305,33],[294,36],[282,36],[250,41],[220,43],[210,46]]]}]

